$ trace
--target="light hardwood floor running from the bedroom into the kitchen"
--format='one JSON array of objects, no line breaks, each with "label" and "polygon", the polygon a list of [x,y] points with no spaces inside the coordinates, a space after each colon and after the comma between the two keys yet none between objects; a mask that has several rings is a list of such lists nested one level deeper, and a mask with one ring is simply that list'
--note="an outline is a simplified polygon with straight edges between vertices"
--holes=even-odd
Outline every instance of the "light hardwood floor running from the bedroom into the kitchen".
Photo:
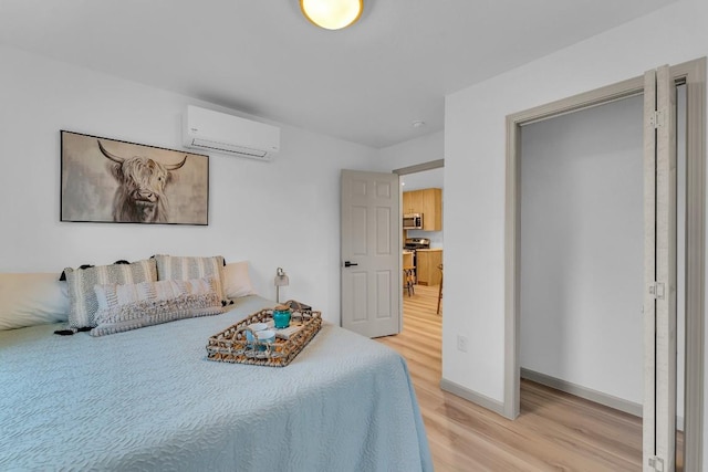
[{"label": "light hardwood floor running from the bedroom into the kitchen", "polygon": [[639,471],[641,419],[522,380],[510,421],[439,388],[438,287],[404,295],[404,329],[378,338],[407,360],[437,472]]}]

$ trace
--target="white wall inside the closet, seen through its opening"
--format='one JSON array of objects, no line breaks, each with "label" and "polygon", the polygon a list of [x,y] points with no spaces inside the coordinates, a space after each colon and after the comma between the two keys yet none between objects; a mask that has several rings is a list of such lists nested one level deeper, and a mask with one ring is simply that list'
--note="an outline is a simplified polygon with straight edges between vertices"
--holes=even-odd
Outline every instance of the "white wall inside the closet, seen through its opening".
[{"label": "white wall inside the closet, seen through its opening", "polygon": [[642,96],[521,132],[521,367],[642,405]]}]

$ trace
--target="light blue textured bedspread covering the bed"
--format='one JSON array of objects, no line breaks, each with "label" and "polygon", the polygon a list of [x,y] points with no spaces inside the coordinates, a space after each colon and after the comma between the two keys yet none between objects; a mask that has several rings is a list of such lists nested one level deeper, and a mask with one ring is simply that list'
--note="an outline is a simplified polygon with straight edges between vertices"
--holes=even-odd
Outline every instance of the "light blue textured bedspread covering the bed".
[{"label": "light blue textured bedspread covering the bed", "polygon": [[206,360],[272,306],[91,337],[0,332],[0,470],[428,471],[405,360],[331,324],[284,368]]}]

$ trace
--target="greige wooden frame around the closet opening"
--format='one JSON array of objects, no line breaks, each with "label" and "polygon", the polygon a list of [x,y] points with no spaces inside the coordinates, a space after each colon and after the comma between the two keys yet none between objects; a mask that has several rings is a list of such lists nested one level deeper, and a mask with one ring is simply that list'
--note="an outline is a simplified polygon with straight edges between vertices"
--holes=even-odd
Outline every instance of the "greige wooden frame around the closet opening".
[{"label": "greige wooden frame around the closet opening", "polygon": [[[704,317],[706,219],[706,57],[670,67],[686,85],[686,345],[684,470],[702,470]],[[504,203],[504,399],[503,416],[520,410],[521,126],[603,105],[644,91],[644,76],[507,116]]]}]

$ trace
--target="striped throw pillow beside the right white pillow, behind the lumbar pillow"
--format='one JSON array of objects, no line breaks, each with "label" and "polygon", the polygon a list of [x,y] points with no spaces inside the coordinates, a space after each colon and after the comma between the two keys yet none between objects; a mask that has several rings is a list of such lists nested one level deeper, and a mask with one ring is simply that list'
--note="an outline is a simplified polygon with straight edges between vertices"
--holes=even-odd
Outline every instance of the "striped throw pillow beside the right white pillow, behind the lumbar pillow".
[{"label": "striped throw pillow beside the right white pillow, behind the lumbar pillow", "polygon": [[216,292],[219,300],[226,301],[223,294],[223,258],[215,255],[211,258],[181,256],[157,254],[154,256],[157,263],[158,281],[188,281],[190,279],[201,279],[214,276]]}]

